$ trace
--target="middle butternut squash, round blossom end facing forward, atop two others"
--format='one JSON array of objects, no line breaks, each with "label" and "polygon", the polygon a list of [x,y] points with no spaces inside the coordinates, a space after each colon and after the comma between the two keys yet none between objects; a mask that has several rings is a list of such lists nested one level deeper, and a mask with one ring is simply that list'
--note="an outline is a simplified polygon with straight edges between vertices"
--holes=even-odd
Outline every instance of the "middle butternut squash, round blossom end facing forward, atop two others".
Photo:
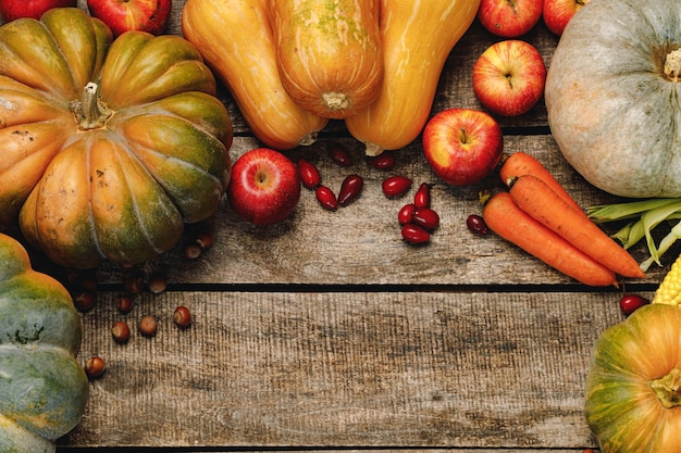
[{"label": "middle butternut squash, round blossom end facing forward, atop two others", "polygon": [[376,0],[270,0],[284,88],[302,109],[345,118],[368,108],[383,80]]}]

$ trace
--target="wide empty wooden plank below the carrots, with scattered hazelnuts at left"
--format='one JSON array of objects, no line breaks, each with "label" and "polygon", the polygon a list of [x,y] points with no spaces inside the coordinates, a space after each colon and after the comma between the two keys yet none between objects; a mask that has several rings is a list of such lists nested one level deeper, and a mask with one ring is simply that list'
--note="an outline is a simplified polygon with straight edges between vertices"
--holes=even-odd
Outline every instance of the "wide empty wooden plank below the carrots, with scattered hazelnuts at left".
[{"label": "wide empty wooden plank below the carrots, with scattered hazelnuts at left", "polygon": [[[172,324],[185,304],[195,323]],[[114,320],[159,319],[114,343]],[[583,388],[612,294],[144,293],[83,316],[91,385],[70,446],[593,445]]]}]

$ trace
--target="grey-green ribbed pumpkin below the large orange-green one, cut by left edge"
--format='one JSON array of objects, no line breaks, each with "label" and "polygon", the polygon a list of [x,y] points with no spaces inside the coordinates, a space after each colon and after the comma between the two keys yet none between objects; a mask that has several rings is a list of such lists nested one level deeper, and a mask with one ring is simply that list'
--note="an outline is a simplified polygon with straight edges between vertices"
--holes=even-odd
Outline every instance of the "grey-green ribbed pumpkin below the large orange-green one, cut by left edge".
[{"label": "grey-green ribbed pumpkin below the large orange-green one, cut by left edge", "polygon": [[71,294],[0,234],[0,452],[53,452],[81,420],[89,385]]}]

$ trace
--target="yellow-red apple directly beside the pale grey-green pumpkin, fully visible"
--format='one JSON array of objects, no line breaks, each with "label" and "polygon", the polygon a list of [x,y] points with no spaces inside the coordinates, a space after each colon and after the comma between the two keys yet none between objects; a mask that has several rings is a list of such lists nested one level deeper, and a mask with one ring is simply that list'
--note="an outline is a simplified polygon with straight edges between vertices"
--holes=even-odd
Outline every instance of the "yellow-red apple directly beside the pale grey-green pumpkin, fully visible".
[{"label": "yellow-red apple directly beside the pale grey-green pumpkin, fully visible", "polygon": [[473,65],[473,92],[493,114],[518,116],[544,95],[546,65],[536,48],[510,39],[490,46]]}]

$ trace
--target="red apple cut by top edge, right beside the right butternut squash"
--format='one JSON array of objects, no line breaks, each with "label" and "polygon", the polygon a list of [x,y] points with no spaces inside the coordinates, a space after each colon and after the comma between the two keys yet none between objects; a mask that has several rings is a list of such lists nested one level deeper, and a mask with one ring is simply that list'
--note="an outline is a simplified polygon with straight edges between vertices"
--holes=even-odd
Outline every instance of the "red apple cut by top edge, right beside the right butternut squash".
[{"label": "red apple cut by top edge, right beside the right butternut squash", "polygon": [[543,3],[544,0],[481,0],[478,20],[496,36],[516,38],[540,22]]}]

